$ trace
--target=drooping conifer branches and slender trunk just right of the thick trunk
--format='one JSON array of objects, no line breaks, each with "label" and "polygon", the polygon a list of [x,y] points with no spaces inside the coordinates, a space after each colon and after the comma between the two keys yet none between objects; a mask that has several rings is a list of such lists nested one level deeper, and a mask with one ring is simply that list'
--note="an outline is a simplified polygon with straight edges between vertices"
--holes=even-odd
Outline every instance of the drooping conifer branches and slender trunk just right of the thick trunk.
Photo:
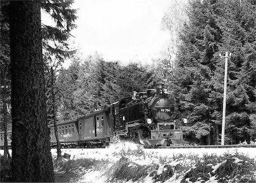
[{"label": "drooping conifer branches and slender trunk just right of the thick trunk", "polygon": [[49,13],[56,22],[55,27],[42,24],[43,29],[43,53],[45,61],[45,71],[49,77],[46,77],[48,90],[50,95],[47,105],[47,111],[51,111],[49,122],[54,124],[54,134],[57,140],[57,156],[61,156],[60,142],[57,130],[57,105],[56,95],[57,88],[55,86],[55,80],[57,73],[59,72],[62,63],[74,54],[74,51],[70,51],[67,43],[70,37],[70,31],[76,28],[74,21],[76,20],[76,10],[71,9],[71,5],[74,1],[43,1],[41,7],[44,11]]}]

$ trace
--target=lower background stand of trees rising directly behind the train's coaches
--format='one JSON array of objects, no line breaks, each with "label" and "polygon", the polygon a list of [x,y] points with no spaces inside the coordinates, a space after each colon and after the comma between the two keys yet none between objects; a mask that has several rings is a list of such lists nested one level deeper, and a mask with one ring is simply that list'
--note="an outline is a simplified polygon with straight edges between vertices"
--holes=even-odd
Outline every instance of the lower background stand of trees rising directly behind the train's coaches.
[{"label": "lower background stand of trees rising directly behind the train's coaches", "polygon": [[84,62],[74,59],[57,79],[65,98],[61,99],[59,117],[63,120],[82,117],[131,96],[133,90],[146,90],[151,74],[140,64],[121,66],[119,62],[106,62],[98,53]]}]

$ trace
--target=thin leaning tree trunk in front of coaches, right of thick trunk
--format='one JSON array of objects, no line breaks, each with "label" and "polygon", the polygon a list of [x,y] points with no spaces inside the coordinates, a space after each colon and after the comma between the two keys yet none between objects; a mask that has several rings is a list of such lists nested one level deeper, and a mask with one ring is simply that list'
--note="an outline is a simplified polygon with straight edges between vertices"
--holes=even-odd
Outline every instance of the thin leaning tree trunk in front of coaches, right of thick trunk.
[{"label": "thin leaning tree trunk in front of coaches, right of thick trunk", "polygon": [[60,140],[59,140],[59,136],[58,136],[58,128],[57,128],[57,117],[56,117],[56,107],[55,107],[55,103],[56,103],[56,99],[55,99],[55,93],[54,93],[54,72],[53,69],[51,68],[51,91],[52,91],[52,109],[53,109],[53,125],[54,125],[54,134],[56,137],[56,142],[57,142],[57,157],[61,157],[61,151],[60,151]]}]

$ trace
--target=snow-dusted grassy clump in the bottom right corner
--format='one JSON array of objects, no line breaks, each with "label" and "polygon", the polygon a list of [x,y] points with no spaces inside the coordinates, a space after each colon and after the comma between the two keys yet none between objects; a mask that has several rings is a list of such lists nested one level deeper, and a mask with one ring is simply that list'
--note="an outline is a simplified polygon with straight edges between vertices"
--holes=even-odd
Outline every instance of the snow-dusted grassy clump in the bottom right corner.
[{"label": "snow-dusted grassy clump in the bottom right corner", "polygon": [[186,172],[181,182],[207,181],[212,176],[219,182],[255,182],[255,170],[255,160],[243,154],[204,155]]}]

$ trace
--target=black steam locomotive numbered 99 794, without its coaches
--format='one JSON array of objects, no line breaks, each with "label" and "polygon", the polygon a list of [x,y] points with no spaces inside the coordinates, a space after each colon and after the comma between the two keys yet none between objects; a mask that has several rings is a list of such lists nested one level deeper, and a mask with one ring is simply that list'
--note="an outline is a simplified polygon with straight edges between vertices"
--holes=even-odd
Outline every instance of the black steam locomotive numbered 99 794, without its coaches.
[{"label": "black steam locomotive numbered 99 794, without its coaches", "polygon": [[145,146],[183,144],[181,114],[163,84],[111,104],[110,116],[116,136]]}]

